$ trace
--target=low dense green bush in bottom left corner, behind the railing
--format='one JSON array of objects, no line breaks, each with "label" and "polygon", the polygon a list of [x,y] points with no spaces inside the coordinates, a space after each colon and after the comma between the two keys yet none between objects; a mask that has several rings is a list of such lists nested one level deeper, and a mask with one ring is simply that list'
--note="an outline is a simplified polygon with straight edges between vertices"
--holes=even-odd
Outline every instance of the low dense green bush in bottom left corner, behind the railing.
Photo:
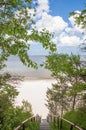
[{"label": "low dense green bush in bottom left corner, behind the railing", "polygon": [[22,121],[32,116],[30,111],[24,111],[22,107],[11,107],[4,113],[4,123],[1,123],[1,129],[14,129]]}]

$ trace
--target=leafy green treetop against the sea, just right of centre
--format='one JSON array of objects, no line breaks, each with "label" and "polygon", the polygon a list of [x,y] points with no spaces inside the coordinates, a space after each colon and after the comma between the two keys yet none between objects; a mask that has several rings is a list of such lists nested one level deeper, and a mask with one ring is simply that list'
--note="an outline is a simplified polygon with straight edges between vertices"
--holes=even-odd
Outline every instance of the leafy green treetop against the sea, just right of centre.
[{"label": "leafy green treetop against the sea, just right of centre", "polygon": [[[66,74],[69,67],[69,56],[64,54],[51,54],[46,56],[44,67],[51,71],[51,76],[55,79],[63,77],[63,73]],[[64,75],[65,76],[65,75]]]}]

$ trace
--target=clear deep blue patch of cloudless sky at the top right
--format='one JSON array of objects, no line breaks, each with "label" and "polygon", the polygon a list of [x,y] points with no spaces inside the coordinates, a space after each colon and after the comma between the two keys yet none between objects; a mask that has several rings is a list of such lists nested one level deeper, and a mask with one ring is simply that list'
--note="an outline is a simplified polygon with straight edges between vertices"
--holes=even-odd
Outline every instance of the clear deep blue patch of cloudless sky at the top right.
[{"label": "clear deep blue patch of cloudless sky at the top right", "polygon": [[49,0],[50,14],[59,15],[68,21],[69,13],[75,10],[82,10],[86,0]]}]

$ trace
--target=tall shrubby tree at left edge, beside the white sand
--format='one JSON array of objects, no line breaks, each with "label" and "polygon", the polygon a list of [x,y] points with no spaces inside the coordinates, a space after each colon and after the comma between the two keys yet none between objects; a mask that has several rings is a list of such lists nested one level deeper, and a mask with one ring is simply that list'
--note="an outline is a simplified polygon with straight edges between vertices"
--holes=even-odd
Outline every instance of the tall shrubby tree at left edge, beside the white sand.
[{"label": "tall shrubby tree at left edge, beside the white sand", "polygon": [[[18,95],[17,89],[6,83],[9,75],[0,76],[0,128],[4,128],[6,113],[13,108],[15,97]],[[3,127],[2,127],[3,126]]]}]

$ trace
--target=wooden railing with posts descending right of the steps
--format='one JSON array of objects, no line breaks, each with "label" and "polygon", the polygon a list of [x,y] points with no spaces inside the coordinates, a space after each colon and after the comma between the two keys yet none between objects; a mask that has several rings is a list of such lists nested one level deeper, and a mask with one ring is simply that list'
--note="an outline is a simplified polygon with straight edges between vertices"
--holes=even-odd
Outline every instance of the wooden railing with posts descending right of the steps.
[{"label": "wooden railing with posts descending right of the steps", "polygon": [[57,124],[58,126],[58,130],[63,130],[63,123],[62,121],[65,121],[66,123],[68,123],[70,125],[70,128],[69,130],[73,130],[73,128],[76,128],[77,130],[84,130],[82,128],[80,128],[79,126],[77,126],[75,123],[65,119],[65,118],[62,118],[60,116],[55,116],[55,115],[48,115],[47,116],[47,121],[48,122],[53,122],[54,124]]}]

